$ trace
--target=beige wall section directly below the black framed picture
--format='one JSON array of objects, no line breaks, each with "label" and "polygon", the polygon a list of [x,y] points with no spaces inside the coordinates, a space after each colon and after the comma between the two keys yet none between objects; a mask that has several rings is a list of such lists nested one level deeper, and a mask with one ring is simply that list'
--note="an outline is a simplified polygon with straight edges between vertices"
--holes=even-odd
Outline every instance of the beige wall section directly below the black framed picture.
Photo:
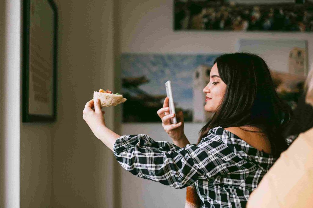
[{"label": "beige wall section directly below the black framed picture", "polygon": [[51,207],[52,124],[21,123],[21,207]]}]

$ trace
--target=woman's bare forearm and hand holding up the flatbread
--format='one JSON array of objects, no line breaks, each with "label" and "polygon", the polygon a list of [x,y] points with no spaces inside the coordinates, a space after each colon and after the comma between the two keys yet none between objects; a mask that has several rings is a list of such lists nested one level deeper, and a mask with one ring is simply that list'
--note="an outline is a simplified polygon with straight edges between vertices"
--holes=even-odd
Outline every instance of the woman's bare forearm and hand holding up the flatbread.
[{"label": "woman's bare forearm and hand holding up the flatbread", "polygon": [[[99,99],[97,99],[97,101],[99,101]],[[93,108],[95,108],[95,110],[93,110]],[[104,111],[101,111],[100,102],[94,103],[94,100],[92,99],[85,105],[85,109],[83,110],[83,119],[86,121],[95,136],[113,151],[113,145],[116,139],[121,136],[106,127],[103,116],[104,113]]]}]

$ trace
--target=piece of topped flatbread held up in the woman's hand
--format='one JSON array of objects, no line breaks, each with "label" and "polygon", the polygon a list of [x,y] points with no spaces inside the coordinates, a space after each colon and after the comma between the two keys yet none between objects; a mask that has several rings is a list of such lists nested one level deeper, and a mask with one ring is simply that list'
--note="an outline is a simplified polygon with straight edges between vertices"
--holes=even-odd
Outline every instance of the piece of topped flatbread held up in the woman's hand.
[{"label": "piece of topped flatbread held up in the woman's hand", "polygon": [[116,106],[127,100],[123,98],[122,94],[113,94],[109,89],[104,91],[101,88],[99,92],[94,91],[94,102],[96,102],[97,99],[100,99],[101,107]]}]

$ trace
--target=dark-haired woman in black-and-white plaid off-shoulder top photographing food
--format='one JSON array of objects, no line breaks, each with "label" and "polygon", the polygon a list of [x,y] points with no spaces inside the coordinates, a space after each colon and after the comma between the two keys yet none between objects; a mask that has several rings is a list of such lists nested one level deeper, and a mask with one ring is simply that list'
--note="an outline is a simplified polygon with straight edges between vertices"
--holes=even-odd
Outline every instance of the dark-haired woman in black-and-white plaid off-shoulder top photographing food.
[{"label": "dark-haired woman in black-and-white plaid off-shoulder top photographing food", "polygon": [[158,110],[175,143],[155,142],[145,134],[120,136],[105,126],[98,103],[90,100],[83,118],[93,133],[132,174],[174,188],[195,184],[201,207],[245,207],[250,193],[287,148],[282,137],[290,108],[277,96],[262,58],[245,53],[219,56],[203,89],[204,109],[214,112],[190,145],[180,122],[171,124]]}]

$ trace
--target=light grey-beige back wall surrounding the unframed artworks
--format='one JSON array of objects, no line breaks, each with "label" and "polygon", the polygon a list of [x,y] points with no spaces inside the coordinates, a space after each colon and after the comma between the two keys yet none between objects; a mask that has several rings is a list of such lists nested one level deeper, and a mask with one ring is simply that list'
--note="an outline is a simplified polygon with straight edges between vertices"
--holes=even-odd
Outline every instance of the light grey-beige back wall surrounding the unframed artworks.
[{"label": "light grey-beige back wall surrounding the unframed artworks", "polygon": [[[118,27],[118,51],[134,53],[223,53],[235,52],[239,38],[257,39],[304,39],[308,41],[309,65],[312,65],[313,36],[311,33],[270,32],[209,32],[173,31],[173,1],[126,1],[120,0],[115,25]],[[118,54],[120,55],[120,54]],[[117,63],[118,60],[117,60]],[[120,68],[116,68],[116,77]],[[120,91],[120,84],[117,83]],[[203,124],[185,124],[185,133],[196,141]],[[161,122],[158,124],[122,124],[121,134],[146,133],[155,140],[168,140]],[[169,140],[168,140],[169,141]],[[121,207],[182,207],[185,190],[136,178],[121,170]]]}]

